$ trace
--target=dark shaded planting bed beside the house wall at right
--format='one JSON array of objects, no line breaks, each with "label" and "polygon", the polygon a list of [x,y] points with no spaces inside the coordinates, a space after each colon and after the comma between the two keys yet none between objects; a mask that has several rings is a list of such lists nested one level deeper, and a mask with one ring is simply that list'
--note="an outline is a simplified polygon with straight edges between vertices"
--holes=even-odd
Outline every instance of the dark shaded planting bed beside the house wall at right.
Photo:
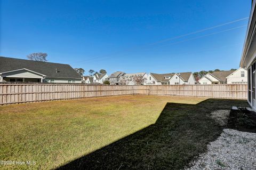
[{"label": "dark shaded planting bed beside the house wall at right", "polygon": [[227,127],[238,131],[256,133],[256,113],[245,108],[231,110]]}]

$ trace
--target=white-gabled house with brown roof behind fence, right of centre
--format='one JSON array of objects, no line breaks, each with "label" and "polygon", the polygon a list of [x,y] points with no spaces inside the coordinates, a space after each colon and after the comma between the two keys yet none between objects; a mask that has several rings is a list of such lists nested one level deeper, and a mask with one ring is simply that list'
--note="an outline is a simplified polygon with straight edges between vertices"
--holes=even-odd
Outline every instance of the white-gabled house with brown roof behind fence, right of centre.
[{"label": "white-gabled house with brown roof behind fence, right of centre", "polygon": [[155,74],[150,73],[147,76],[145,85],[178,85],[195,84],[195,78],[192,72]]}]

